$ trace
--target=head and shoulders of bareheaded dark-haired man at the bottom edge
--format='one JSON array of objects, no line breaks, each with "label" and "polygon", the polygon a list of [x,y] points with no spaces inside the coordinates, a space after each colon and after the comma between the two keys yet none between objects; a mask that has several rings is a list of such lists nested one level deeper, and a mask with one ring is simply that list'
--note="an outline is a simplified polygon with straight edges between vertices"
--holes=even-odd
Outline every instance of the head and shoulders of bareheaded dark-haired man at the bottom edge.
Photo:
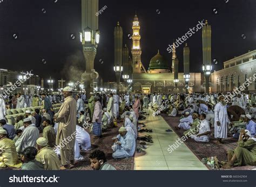
[{"label": "head and shoulders of bareheaded dark-haired man at the bottom edge", "polygon": [[91,167],[93,170],[116,170],[113,165],[107,163],[105,154],[101,150],[93,151],[90,156]]}]

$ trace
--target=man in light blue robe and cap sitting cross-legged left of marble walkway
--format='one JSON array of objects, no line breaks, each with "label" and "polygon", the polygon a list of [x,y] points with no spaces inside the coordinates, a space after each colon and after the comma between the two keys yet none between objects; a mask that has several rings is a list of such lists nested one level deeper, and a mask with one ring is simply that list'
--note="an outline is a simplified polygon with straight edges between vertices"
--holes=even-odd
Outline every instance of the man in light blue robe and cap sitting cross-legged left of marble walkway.
[{"label": "man in light blue robe and cap sitting cross-legged left of marble walkway", "polygon": [[128,158],[133,156],[136,148],[134,136],[128,133],[124,127],[119,129],[119,135],[119,141],[117,138],[112,146],[114,152],[112,154],[113,158]]}]

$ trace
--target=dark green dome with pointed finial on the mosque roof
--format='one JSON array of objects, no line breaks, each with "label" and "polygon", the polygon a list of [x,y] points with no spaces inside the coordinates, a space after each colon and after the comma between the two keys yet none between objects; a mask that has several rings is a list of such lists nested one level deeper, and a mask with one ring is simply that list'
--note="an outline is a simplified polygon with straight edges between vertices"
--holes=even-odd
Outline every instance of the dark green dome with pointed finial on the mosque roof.
[{"label": "dark green dome with pointed finial on the mosque roof", "polygon": [[170,70],[167,61],[163,56],[158,54],[150,60],[149,70]]}]

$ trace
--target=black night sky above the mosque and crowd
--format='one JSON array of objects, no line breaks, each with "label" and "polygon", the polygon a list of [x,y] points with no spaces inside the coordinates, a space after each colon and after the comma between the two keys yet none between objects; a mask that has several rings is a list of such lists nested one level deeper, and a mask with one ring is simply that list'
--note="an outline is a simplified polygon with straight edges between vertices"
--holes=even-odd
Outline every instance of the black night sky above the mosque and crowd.
[{"label": "black night sky above the mosque and crowd", "polygon": [[[1,2],[3,1],[3,2]],[[55,1],[57,1],[55,3]],[[85,70],[81,30],[80,0],[0,0],[0,68],[30,71],[54,80],[77,81]],[[207,2],[207,3],[206,3]],[[225,3],[227,2],[227,3]],[[223,61],[256,49],[255,0],[99,0],[100,44],[95,69],[104,81],[114,81],[113,29],[123,27],[124,40],[130,49],[135,11],[140,21],[142,63],[164,55],[171,66],[169,44],[182,37],[198,21],[207,19],[212,26],[213,70],[223,68]],[[217,9],[214,13],[213,9]],[[15,39],[15,36],[18,38]],[[76,38],[72,39],[71,34]],[[201,30],[187,40],[190,47],[190,70],[199,72],[203,59]],[[183,47],[177,49],[179,71],[183,72]]]}]

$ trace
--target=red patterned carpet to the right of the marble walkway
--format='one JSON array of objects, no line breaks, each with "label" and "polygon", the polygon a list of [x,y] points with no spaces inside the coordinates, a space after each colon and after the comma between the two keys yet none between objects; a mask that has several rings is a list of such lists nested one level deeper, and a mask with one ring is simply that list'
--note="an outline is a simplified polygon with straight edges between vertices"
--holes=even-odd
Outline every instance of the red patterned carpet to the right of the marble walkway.
[{"label": "red patterned carpet to the right of the marble walkway", "polygon": [[[170,117],[167,114],[161,114],[161,116],[163,116],[164,120],[179,137],[184,136],[183,133],[185,130],[177,130],[174,128],[174,126],[178,126],[180,115],[176,117]],[[214,132],[214,127],[211,128],[211,131]],[[185,144],[199,158],[199,160],[202,160],[205,157],[217,156],[219,161],[227,161],[226,152],[229,149],[234,149],[237,147],[237,140],[232,137],[228,137],[226,140],[224,140],[224,142],[224,144],[218,145],[212,133],[210,142],[196,142],[193,139],[188,138],[188,140],[185,141]],[[246,166],[235,167],[231,170],[252,170],[254,168],[256,167]]]}]

